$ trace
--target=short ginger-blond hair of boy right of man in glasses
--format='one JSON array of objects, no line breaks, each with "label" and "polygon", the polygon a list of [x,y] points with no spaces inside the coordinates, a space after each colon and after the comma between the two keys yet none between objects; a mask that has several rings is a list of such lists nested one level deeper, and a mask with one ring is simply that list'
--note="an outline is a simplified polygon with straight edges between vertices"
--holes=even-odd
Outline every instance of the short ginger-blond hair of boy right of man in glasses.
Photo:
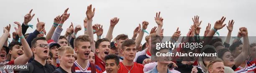
[{"label": "short ginger-blond hair of boy right of man in glasses", "polygon": [[69,46],[61,46],[59,49],[58,49],[58,56],[61,56],[65,53],[70,53],[70,54],[74,54],[74,50],[72,47],[69,47]]}]

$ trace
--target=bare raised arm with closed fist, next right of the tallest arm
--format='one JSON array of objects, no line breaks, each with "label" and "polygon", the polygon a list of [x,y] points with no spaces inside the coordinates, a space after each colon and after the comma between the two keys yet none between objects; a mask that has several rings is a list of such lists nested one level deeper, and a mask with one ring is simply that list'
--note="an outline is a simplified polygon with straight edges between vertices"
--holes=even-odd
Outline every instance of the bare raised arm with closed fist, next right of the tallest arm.
[{"label": "bare raised arm with closed fist, next right of the tallest arm", "polygon": [[106,38],[108,38],[108,40],[111,40],[112,39],[112,34],[113,34],[113,30],[114,30],[114,27],[115,25],[118,23],[119,21],[119,18],[112,18],[110,20],[110,26],[109,26],[109,29],[108,29],[108,33],[106,35]]}]

